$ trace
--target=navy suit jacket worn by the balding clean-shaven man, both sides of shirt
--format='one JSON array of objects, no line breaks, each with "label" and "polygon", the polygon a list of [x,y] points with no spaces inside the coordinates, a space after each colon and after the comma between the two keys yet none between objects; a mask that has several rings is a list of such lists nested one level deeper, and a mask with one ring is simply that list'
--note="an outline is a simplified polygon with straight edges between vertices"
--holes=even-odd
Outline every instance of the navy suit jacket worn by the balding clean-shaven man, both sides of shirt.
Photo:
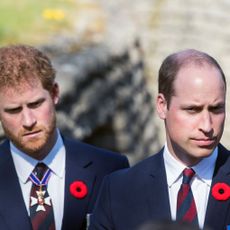
[{"label": "navy suit jacket worn by the balding clean-shaven man, both sides of shirt", "polygon": [[[230,185],[229,152],[219,145],[212,185]],[[106,176],[91,216],[90,230],[136,230],[149,221],[170,220],[170,204],[163,150],[130,169]],[[230,225],[230,199],[209,195],[205,226],[226,230]]]}]

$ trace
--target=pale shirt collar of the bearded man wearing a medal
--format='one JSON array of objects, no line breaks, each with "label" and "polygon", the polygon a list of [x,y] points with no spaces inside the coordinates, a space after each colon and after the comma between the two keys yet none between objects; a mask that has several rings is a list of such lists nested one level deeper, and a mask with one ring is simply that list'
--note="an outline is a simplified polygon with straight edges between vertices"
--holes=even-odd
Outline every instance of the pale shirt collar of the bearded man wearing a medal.
[{"label": "pale shirt collar of the bearded man wearing a medal", "polygon": [[[45,163],[54,174],[62,178],[65,171],[66,153],[59,130],[57,130],[57,134],[57,141],[55,145],[41,162]],[[11,141],[10,151],[19,180],[21,180],[23,183],[26,183],[31,172],[34,170],[34,167],[40,161],[28,156],[26,153],[19,150]]]}]

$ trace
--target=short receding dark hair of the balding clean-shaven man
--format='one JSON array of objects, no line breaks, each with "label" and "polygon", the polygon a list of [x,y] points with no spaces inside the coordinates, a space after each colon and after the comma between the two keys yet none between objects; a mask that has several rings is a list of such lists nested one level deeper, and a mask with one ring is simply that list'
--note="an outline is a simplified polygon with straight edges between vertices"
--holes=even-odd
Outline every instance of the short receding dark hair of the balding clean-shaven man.
[{"label": "short receding dark hair of the balding clean-shaven man", "polygon": [[186,65],[202,66],[208,64],[220,71],[226,88],[226,79],[224,72],[218,62],[207,53],[187,49],[167,56],[161,64],[158,74],[158,93],[162,93],[167,101],[167,107],[170,105],[171,97],[175,95],[174,81],[179,70]]}]

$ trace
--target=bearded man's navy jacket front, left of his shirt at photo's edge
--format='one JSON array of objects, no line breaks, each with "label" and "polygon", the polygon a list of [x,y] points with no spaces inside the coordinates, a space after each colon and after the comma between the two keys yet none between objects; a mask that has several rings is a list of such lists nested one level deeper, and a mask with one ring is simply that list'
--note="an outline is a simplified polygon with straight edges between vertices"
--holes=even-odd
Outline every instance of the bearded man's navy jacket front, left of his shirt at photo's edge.
[{"label": "bearded man's navy jacket front, left of his shirt at photo's edge", "polygon": [[17,173],[9,149],[9,142],[1,145],[0,152],[0,212],[9,229],[31,229]]}]

